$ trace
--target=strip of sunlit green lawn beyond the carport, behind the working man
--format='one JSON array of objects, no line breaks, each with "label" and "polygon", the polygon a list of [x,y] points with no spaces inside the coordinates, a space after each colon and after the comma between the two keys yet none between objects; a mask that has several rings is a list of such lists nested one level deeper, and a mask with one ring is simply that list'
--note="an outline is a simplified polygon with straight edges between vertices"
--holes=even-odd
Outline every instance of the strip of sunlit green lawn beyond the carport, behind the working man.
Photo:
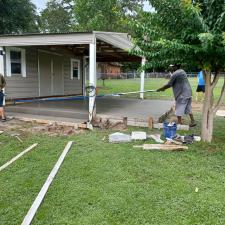
[{"label": "strip of sunlit green lawn beyond the carport, behind the working man", "polygon": [[[195,97],[197,88],[197,78],[189,78],[190,84],[193,90],[193,96]],[[145,90],[155,90],[163,86],[168,82],[165,78],[148,78],[145,79]],[[139,91],[140,90],[140,79],[126,79],[126,80],[105,80],[105,86],[103,82],[98,80],[97,86],[100,88],[100,94],[111,94],[119,92],[129,92],[129,91]],[[214,96],[218,99],[220,96],[220,91],[223,86],[223,79],[221,78],[215,88]],[[127,95],[127,97],[135,97],[137,95]],[[172,99],[173,93],[172,89],[168,89],[165,92],[157,93],[146,93],[146,98],[150,99]],[[201,98],[199,98],[201,100]]]}]

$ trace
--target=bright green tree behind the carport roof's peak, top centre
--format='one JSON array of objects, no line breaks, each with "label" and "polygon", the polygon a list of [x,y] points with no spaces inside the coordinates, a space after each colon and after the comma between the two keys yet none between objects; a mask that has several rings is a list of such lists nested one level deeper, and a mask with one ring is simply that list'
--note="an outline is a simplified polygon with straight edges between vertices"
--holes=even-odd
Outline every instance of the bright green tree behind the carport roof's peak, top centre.
[{"label": "bright green tree behind the carport roof's peak, top centre", "polygon": [[142,3],[143,0],[74,0],[75,29],[126,32],[129,19],[137,15]]}]

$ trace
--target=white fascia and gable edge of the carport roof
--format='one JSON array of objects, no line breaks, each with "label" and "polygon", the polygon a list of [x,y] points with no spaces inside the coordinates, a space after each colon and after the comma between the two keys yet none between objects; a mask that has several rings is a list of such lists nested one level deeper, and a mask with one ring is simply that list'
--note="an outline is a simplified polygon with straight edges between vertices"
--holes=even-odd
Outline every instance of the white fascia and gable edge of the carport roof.
[{"label": "white fascia and gable edge of the carport roof", "polygon": [[124,50],[130,50],[133,47],[129,34],[101,31],[2,35],[0,36],[0,46],[90,44],[94,42],[95,38]]}]

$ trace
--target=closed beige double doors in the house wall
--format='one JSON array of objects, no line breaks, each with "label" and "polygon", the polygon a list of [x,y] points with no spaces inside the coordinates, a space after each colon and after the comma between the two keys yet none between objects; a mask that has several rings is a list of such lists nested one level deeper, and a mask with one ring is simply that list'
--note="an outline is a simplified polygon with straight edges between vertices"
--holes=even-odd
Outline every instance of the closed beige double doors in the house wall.
[{"label": "closed beige double doors in the house wall", "polygon": [[62,58],[39,52],[40,96],[63,95]]}]

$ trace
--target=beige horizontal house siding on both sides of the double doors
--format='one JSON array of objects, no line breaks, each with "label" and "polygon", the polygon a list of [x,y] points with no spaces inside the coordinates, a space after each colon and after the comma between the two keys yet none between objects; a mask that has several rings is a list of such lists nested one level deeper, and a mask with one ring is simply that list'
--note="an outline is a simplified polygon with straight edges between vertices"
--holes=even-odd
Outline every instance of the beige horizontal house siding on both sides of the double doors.
[{"label": "beige horizontal house siding on both sides of the double doors", "polygon": [[[37,47],[26,48],[26,77],[12,75],[6,78],[7,99],[39,97],[38,80],[38,49]],[[45,48],[42,48],[45,49]],[[56,51],[54,51],[56,53]],[[63,54],[63,95],[82,94],[82,60],[69,54],[68,52],[57,51]],[[49,56],[51,57],[51,55]],[[71,79],[71,58],[80,60],[80,80]],[[6,72],[5,72],[6,74]]]}]

